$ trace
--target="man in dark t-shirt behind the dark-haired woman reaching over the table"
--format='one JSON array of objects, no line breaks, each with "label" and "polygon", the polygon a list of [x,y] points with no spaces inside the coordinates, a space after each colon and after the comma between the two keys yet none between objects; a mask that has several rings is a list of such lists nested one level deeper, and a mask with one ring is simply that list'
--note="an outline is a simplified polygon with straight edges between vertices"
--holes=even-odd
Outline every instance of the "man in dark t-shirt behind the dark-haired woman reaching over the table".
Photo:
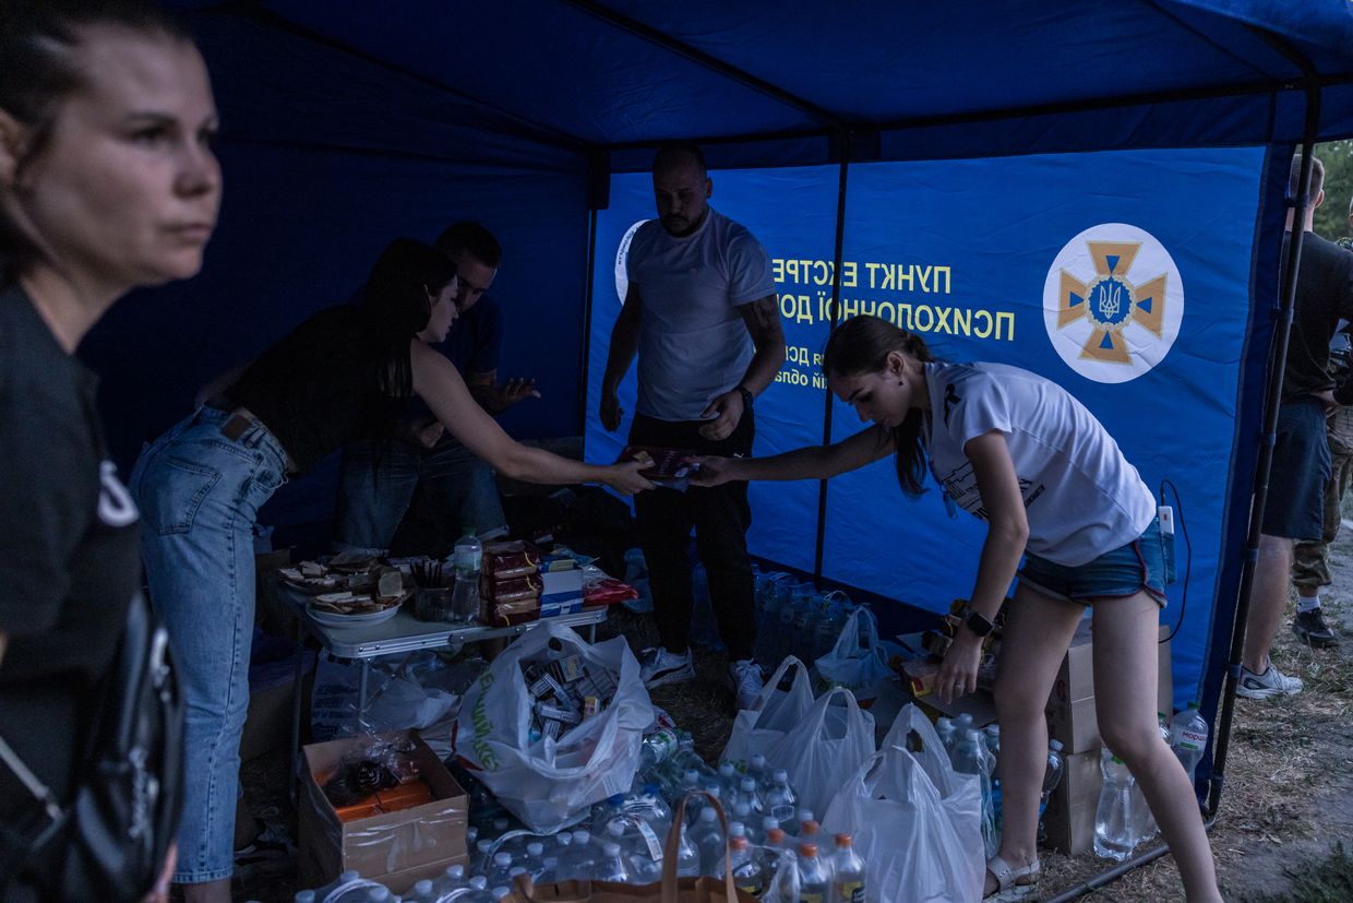
[{"label": "man in dark t-shirt behind the dark-haired woman reaching over the table", "polygon": [[[460,315],[437,349],[456,366],[469,394],[490,414],[499,414],[525,398],[538,398],[532,379],[498,383],[503,315],[484,294],[502,261],[502,248],[492,233],[479,223],[459,222],[437,238],[437,248],[456,263],[460,280],[456,296]],[[441,537],[441,544],[449,547],[464,527],[474,527],[482,537],[507,531],[492,468],[414,398],[388,447],[361,443],[345,449],[334,547],[388,551],[415,493],[433,500],[444,532],[451,533]]]}]

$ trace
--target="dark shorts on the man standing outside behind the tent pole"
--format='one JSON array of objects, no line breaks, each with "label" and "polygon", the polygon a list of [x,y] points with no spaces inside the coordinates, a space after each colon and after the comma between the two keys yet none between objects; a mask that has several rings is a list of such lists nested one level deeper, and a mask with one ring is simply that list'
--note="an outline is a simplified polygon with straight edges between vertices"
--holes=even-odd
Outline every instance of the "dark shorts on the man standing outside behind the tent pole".
[{"label": "dark shorts on the man standing outside behind the tent pole", "polygon": [[1310,395],[1283,402],[1277,410],[1277,443],[1262,531],[1288,539],[1321,539],[1329,478],[1325,405]]}]

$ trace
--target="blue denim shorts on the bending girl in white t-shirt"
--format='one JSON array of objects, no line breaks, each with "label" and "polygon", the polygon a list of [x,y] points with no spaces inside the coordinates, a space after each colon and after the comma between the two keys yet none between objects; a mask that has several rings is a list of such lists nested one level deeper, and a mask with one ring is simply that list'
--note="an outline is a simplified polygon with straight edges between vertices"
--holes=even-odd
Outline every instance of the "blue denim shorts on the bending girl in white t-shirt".
[{"label": "blue denim shorts on the bending girl in white t-shirt", "polygon": [[1080,605],[1089,605],[1096,598],[1124,598],[1146,590],[1164,608],[1166,602],[1164,542],[1161,521],[1157,517],[1127,546],[1104,552],[1095,560],[1076,567],[1027,552],[1019,579],[1045,596]]}]

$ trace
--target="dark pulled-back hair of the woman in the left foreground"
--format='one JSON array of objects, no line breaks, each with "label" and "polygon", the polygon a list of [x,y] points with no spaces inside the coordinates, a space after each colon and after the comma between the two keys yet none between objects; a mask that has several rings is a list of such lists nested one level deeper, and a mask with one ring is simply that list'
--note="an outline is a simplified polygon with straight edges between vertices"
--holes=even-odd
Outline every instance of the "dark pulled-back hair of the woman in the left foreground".
[{"label": "dark pulled-back hair of the woman in the left foreground", "polygon": [[[64,97],[84,84],[76,58],[81,28],[115,26],[192,43],[177,19],[149,0],[0,0],[0,110],[32,130],[16,173],[51,135]],[[41,250],[0,213],[0,286],[41,259]]]}]

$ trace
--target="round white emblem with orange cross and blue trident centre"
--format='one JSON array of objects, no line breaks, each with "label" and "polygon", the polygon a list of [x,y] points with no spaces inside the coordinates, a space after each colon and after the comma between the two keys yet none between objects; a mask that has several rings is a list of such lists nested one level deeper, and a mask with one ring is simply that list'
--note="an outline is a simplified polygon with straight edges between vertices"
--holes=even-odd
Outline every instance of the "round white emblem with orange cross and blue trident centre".
[{"label": "round white emblem with orange cross and blue trident centre", "polygon": [[1062,248],[1043,283],[1053,348],[1086,379],[1123,383],[1165,359],[1184,317],[1184,284],[1165,246],[1122,222]]}]

